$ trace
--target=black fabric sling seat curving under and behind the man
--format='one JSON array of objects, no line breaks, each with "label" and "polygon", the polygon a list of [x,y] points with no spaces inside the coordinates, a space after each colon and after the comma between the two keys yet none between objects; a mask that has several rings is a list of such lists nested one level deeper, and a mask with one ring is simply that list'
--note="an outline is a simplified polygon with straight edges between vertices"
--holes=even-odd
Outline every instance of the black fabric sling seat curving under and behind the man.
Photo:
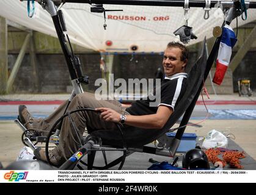
[{"label": "black fabric sling seat curving under and behind the man", "polygon": [[[197,100],[198,96],[196,96],[196,94],[197,91],[202,89],[202,81],[203,77],[205,76],[206,66],[207,54],[205,49],[205,41],[203,41],[201,55],[195,65],[192,66],[191,71],[188,74],[185,93],[163,129],[141,129],[137,127],[131,128],[129,126],[125,126],[122,128],[122,130],[127,147],[142,147],[145,144],[151,143],[164,135],[172,126],[174,126],[175,122],[177,122],[178,119],[186,112],[194,98]],[[100,137],[103,144],[116,147],[123,146],[122,136],[117,130],[97,130],[91,134]]]}]

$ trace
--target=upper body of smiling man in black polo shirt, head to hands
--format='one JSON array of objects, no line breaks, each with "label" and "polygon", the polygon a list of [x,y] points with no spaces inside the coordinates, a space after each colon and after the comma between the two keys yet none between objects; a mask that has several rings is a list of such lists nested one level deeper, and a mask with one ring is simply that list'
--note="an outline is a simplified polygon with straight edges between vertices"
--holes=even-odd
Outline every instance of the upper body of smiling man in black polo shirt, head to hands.
[{"label": "upper body of smiling man in black polo shirt, head to hands", "polygon": [[[165,78],[161,83],[160,102],[157,107],[150,107],[150,99],[134,102],[126,108],[130,115],[123,116],[111,108],[97,108],[105,121],[122,122],[129,126],[145,129],[162,129],[174,112],[185,90],[188,62],[188,49],[183,44],[170,42],[164,51],[163,68]],[[156,94],[157,95],[157,94]]]}]

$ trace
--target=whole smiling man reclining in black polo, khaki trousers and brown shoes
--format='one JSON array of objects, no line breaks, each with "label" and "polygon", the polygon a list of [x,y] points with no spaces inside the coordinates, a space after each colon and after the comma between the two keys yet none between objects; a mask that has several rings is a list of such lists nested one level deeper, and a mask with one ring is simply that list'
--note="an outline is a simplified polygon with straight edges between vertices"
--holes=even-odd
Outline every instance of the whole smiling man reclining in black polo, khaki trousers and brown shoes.
[{"label": "whole smiling man reclining in black polo, khaki trousers and brown shoes", "polygon": [[[93,94],[82,93],[75,96],[68,106],[67,112],[79,108],[96,108],[96,112],[76,112],[72,114],[73,121],[79,129],[76,132],[68,117],[64,118],[60,133],[59,145],[50,151],[49,157],[55,165],[73,155],[79,149],[81,137],[87,128],[93,130],[114,129],[113,122],[121,122],[130,126],[144,129],[162,129],[170,115],[174,112],[178,101],[185,91],[185,68],[188,62],[188,50],[180,43],[170,42],[164,51],[163,68],[166,77],[161,83],[161,99],[157,106],[150,107],[150,99],[139,100],[125,107],[118,101],[97,101]],[[45,119],[34,119],[27,111],[26,106],[20,105],[20,120],[28,129],[38,132],[48,132],[54,122],[64,114],[67,102],[60,105],[56,112]],[[45,151],[37,149],[35,156],[46,161]]]}]

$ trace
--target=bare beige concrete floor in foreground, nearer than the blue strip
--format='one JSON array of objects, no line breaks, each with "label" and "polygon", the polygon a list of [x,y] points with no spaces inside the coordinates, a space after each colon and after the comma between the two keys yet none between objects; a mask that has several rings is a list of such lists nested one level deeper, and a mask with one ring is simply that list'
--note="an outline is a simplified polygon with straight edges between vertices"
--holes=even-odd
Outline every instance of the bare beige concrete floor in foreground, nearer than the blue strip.
[{"label": "bare beige concrete floor in foreground, nearer than the blue strip", "polygon": [[[191,120],[190,122],[196,123],[199,121]],[[200,125],[202,127],[189,126],[186,132],[196,133],[198,137],[204,137],[212,129],[233,133],[236,137],[235,143],[256,160],[256,127],[254,120],[207,120]],[[21,133],[20,128],[13,121],[0,121],[0,161],[3,166],[7,166],[16,160],[20,149],[23,147]]]}]

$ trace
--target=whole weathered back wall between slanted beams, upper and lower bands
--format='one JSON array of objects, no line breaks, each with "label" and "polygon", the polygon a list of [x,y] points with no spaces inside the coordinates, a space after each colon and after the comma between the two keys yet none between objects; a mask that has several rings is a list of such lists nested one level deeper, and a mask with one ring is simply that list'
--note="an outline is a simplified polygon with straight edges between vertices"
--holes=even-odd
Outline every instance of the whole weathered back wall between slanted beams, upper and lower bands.
[{"label": "whole weathered back wall between slanted beams, upper and lower bands", "polygon": [[[246,26],[239,29],[238,32],[238,43],[235,48],[233,48],[233,55],[243,44],[247,35],[250,34],[252,28],[255,24],[247,24]],[[235,30],[236,32],[236,30]],[[8,33],[8,63],[9,72],[15,63],[18,52],[23,44],[24,38],[26,37],[26,32],[15,30],[9,27]],[[48,35],[41,34],[40,32],[34,33],[35,41],[35,51],[37,54],[37,66],[40,77],[40,91],[42,93],[63,93],[67,91],[67,87],[70,86],[70,78],[68,74],[68,69],[65,64],[64,56],[61,54],[62,51],[59,46],[59,40],[54,37],[49,37]],[[252,40],[254,41],[254,40]],[[251,50],[246,54],[238,68],[232,73],[228,70],[225,75],[224,82],[221,87],[214,84],[214,88],[218,94],[232,94],[233,91],[238,91],[237,80],[240,78],[251,79],[251,88],[256,91],[256,77],[255,77],[255,55],[256,55],[256,41],[252,45]],[[208,49],[210,51],[211,46],[214,43],[214,38],[207,40]],[[191,65],[196,62],[197,52],[201,44],[195,44],[190,47],[190,61],[188,69]],[[95,79],[101,77],[100,72],[100,55],[88,49],[81,48],[79,46],[73,45],[73,49],[76,54],[81,57],[81,62],[83,64],[84,73],[90,77],[90,84],[86,86],[86,90],[95,90],[94,82]],[[27,53],[29,50],[27,49]],[[31,73],[31,65],[29,62],[29,55],[26,54],[21,68],[19,70],[18,76],[15,79],[13,85],[13,92],[15,93],[33,93],[35,89],[33,88],[32,82],[34,81]],[[159,54],[155,55],[115,55],[114,56],[114,66],[113,73],[116,78],[153,78],[155,77],[155,71],[158,67],[162,66],[163,57]],[[214,75],[214,65],[211,70],[212,76]],[[207,79],[205,85],[208,88],[209,93],[213,93],[213,88],[211,87],[210,79]]]}]

